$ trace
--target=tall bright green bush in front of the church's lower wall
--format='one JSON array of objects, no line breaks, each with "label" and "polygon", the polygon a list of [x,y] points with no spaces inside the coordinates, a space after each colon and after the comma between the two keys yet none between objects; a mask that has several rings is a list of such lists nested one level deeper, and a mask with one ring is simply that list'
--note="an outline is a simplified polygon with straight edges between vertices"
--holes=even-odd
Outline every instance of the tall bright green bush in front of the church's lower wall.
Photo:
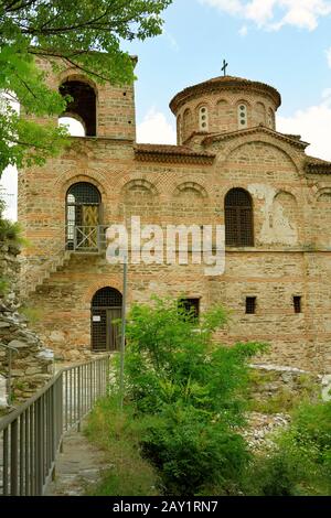
[{"label": "tall bright green bush in front of the church's lower wall", "polygon": [[220,306],[196,321],[177,301],[159,299],[134,305],[128,316],[126,397],[167,494],[201,494],[213,485],[227,494],[249,458],[237,433],[247,360],[266,345],[215,344],[213,334],[226,320]]}]

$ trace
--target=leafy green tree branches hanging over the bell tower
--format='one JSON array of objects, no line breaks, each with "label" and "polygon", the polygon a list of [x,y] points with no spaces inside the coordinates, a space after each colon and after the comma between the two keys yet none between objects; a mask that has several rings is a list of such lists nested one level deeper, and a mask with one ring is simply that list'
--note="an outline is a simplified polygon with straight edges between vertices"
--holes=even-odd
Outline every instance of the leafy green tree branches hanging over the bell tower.
[{"label": "leafy green tree branches hanging over the bell tower", "polygon": [[22,119],[61,115],[66,99],[45,84],[35,56],[76,67],[95,80],[131,83],[134,64],[124,40],[162,31],[161,12],[172,0],[0,1],[0,171],[8,164],[42,164],[64,143],[65,131]]}]

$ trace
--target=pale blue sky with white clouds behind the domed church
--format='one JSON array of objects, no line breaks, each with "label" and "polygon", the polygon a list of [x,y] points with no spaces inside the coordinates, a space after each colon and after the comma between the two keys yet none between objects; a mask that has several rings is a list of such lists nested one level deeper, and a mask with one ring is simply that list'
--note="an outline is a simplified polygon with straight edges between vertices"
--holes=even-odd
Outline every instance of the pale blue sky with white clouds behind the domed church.
[{"label": "pale blue sky with white clouds behind the domed church", "polygon": [[[125,43],[138,55],[137,140],[175,143],[172,97],[222,74],[276,87],[277,130],[301,134],[307,153],[331,161],[331,0],[174,0],[163,34]],[[2,175],[17,217],[17,174]]]}]

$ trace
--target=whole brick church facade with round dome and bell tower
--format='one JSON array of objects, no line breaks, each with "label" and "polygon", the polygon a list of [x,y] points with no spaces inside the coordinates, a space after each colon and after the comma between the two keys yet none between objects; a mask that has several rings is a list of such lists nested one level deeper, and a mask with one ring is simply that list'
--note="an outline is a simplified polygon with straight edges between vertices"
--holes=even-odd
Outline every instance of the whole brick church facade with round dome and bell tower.
[{"label": "whole brick church facade with round dome and bell tower", "polygon": [[[104,230],[142,224],[225,225],[226,266],[129,265],[128,303],[185,298],[196,312],[232,310],[223,343],[267,341],[264,363],[331,370],[331,163],[276,129],[281,99],[265,84],[216,77],[178,94],[178,144],[136,143],[134,87],[50,72],[86,136],[43,168],[19,173],[22,293],[58,356],[116,347],[122,266],[107,263]],[[42,123],[42,121],[41,121]]]}]

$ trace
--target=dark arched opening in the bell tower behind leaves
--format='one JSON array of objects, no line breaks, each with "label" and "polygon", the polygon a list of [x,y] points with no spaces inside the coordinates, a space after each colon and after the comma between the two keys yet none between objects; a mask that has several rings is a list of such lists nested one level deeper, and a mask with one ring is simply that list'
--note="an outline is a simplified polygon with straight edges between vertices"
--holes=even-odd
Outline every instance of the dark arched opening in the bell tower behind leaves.
[{"label": "dark arched opening in the bell tower behind leaves", "polygon": [[96,136],[96,93],[94,88],[82,80],[66,80],[60,87],[62,96],[72,100],[61,118],[68,117],[82,122],[86,137]]}]

